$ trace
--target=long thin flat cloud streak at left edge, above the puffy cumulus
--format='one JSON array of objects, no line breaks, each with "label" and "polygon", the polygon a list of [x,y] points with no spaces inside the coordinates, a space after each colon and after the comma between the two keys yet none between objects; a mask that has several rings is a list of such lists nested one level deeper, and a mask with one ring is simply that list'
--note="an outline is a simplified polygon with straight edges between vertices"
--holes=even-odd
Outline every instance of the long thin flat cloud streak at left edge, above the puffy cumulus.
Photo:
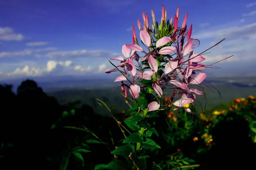
[{"label": "long thin flat cloud streak at left edge, above the puffy cumulus", "polygon": [[38,48],[38,49],[24,49],[22,51],[14,51],[14,52],[0,52],[1,57],[18,57],[18,56],[35,56],[36,54],[42,51],[54,51],[57,48],[48,47],[48,48]]}]

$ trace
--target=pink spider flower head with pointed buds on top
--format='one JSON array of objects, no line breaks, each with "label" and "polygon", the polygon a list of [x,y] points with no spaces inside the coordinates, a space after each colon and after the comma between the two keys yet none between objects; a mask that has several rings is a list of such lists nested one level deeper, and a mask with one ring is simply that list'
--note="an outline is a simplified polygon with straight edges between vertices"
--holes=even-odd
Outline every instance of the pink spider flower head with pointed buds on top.
[{"label": "pink spider flower head with pointed buds on top", "polygon": [[[166,20],[167,11],[164,6],[162,7],[160,25],[155,21],[154,12],[151,11],[151,13],[152,28],[149,27],[148,14],[143,13],[144,29],[141,29],[141,23],[138,19],[142,44],[139,45],[133,26],[133,43],[122,46],[122,54],[125,58],[111,58],[111,60],[118,60],[120,63],[117,66],[114,65],[115,68],[106,70],[105,73],[113,71],[122,73],[116,77],[115,82],[121,81],[125,99],[127,98],[127,88],[135,100],[140,97],[141,89],[148,88],[148,93],[155,91],[156,101],[148,104],[148,111],[156,111],[160,106],[166,107],[166,102],[161,100],[162,96],[165,95],[163,90],[172,89],[171,100],[174,99],[174,96],[178,96],[179,99],[171,101],[168,106],[174,105],[177,109],[193,103],[196,95],[204,95],[195,86],[202,87],[201,82],[207,77],[206,73],[201,72],[207,67],[201,63],[205,57],[196,54],[193,49],[198,46],[199,40],[192,38],[192,25],[187,31],[188,14],[186,14],[180,28],[178,27],[179,7],[174,17],[174,23],[172,23],[173,18],[170,22]],[[124,85],[124,81],[129,85]],[[183,108],[192,113],[189,107]]]}]

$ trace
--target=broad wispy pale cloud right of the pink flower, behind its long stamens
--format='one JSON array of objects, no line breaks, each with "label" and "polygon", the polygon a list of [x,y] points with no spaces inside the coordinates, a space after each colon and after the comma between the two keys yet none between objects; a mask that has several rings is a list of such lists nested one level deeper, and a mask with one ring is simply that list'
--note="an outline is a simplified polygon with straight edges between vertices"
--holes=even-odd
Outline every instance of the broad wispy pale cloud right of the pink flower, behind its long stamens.
[{"label": "broad wispy pale cloud right of the pink flower, behind its long stamens", "polygon": [[[249,60],[255,58],[256,23],[244,26],[226,26],[221,29],[204,29],[194,34],[193,37],[201,40],[201,45],[198,47],[200,51],[195,48],[196,53],[200,53],[212,45],[215,45],[218,41],[226,38],[226,40],[206,52],[212,53],[207,54],[205,62],[213,63],[232,55],[234,56],[223,62],[238,62],[238,60],[249,62]],[[214,43],[204,45],[206,44],[205,42],[209,42],[209,40]]]}]

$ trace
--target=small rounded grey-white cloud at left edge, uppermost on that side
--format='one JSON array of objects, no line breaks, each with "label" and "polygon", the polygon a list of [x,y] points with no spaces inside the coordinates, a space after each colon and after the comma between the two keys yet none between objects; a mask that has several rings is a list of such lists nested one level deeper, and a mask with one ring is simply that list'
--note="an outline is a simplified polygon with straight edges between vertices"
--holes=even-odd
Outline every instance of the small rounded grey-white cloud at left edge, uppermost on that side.
[{"label": "small rounded grey-white cloud at left edge, uppermost on that side", "polygon": [[20,41],[25,37],[22,34],[17,34],[9,27],[0,27],[0,40],[3,41]]}]

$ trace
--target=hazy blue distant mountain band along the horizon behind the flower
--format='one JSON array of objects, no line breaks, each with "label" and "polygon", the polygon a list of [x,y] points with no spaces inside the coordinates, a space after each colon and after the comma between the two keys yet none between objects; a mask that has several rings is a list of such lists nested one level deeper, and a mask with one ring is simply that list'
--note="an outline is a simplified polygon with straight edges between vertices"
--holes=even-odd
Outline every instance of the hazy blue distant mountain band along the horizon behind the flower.
[{"label": "hazy blue distant mountain band along the horizon behind the flower", "polygon": [[[105,77],[27,77],[24,79],[0,81],[0,84],[12,84],[16,91],[20,83],[26,79],[32,79],[46,92],[60,91],[65,89],[102,89],[114,88],[120,82],[114,82],[115,76]],[[207,82],[212,85],[232,85],[238,87],[256,87],[255,77],[215,77],[208,76]]]}]

